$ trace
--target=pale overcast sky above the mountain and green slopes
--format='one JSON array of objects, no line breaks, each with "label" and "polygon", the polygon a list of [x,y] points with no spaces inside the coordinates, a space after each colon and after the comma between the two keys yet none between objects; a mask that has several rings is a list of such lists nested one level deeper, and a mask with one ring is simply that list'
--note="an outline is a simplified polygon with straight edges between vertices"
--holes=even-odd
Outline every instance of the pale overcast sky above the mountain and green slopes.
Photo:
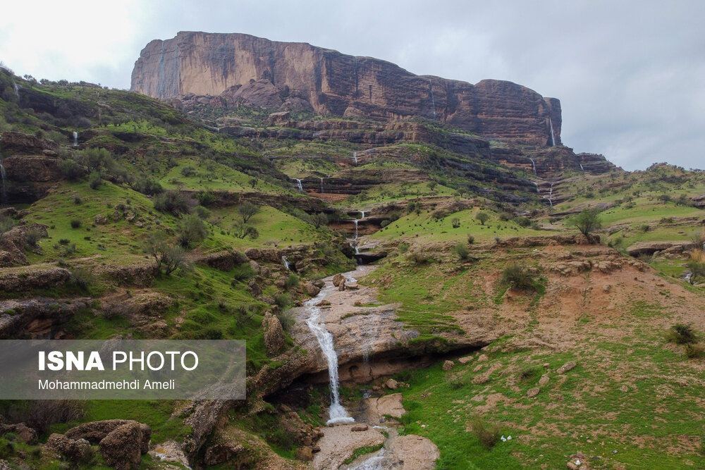
[{"label": "pale overcast sky above the mountain and green slopes", "polygon": [[627,170],[705,168],[704,0],[13,1],[18,75],[130,87],[178,31],[244,32],[382,58],[419,75],[510,80],[560,99],[563,142]]}]

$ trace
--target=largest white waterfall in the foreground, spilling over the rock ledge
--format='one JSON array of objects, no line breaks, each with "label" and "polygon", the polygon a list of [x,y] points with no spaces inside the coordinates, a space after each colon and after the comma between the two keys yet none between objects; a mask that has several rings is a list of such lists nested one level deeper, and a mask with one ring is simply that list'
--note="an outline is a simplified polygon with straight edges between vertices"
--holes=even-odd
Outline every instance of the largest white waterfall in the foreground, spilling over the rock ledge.
[{"label": "largest white waterfall in the foreground, spilling over the rock ledge", "polygon": [[338,355],[333,345],[333,335],[331,335],[329,330],[326,330],[325,323],[321,321],[321,309],[316,307],[316,304],[321,302],[332,288],[333,286],[325,287],[319,295],[304,302],[304,306],[309,312],[306,324],[311,333],[316,336],[318,344],[321,346],[321,352],[323,352],[328,361],[328,376],[331,381],[331,407],[329,409],[330,419],[326,424],[352,423],[355,419],[348,416],[345,408],[341,405],[341,395],[338,390],[340,386],[338,383]]}]

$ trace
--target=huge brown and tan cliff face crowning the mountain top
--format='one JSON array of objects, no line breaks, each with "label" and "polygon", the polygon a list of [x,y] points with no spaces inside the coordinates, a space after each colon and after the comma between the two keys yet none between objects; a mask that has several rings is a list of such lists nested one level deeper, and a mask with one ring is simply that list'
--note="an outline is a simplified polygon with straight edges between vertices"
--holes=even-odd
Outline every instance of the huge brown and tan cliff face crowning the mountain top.
[{"label": "huge brown and tan cliff face crowning the mountain top", "polygon": [[376,58],[250,35],[179,32],[149,42],[135,63],[132,89],[158,99],[221,97],[223,106],[309,104],[335,116],[423,116],[485,137],[560,144],[560,101],[521,85],[414,75]]}]

